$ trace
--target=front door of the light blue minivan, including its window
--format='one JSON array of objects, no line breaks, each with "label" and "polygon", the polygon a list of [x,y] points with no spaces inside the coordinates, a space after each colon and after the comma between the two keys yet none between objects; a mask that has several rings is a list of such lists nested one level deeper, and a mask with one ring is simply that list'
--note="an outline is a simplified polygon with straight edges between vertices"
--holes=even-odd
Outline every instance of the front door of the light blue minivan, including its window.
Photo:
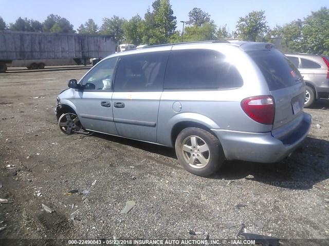
[{"label": "front door of the light blue minivan, including its window", "polygon": [[112,111],[112,78],[116,63],[117,57],[100,61],[80,81],[83,90],[75,91],[71,99],[87,130],[118,135]]}]

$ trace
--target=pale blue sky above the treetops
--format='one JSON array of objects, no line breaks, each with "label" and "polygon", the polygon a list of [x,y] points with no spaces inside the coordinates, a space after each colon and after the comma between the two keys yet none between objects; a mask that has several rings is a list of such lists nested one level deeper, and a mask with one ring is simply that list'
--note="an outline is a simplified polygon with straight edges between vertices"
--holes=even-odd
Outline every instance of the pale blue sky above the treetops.
[{"label": "pale blue sky above the treetops", "polygon": [[[77,29],[87,19],[92,18],[96,24],[102,25],[102,18],[117,15],[125,19],[139,14],[144,16],[148,7],[152,8],[152,0],[0,0],[0,16],[7,24],[15,22],[19,17],[43,22],[49,14],[57,14],[69,20]],[[188,20],[188,13],[193,8],[200,8],[211,15],[217,26],[227,24],[229,31],[235,30],[239,17],[250,11],[265,10],[266,20],[270,28],[283,25],[295,19],[303,19],[321,7],[329,8],[328,0],[277,0],[277,1],[223,1],[223,0],[171,0],[170,4],[177,17],[177,29],[182,29],[181,20]]]}]

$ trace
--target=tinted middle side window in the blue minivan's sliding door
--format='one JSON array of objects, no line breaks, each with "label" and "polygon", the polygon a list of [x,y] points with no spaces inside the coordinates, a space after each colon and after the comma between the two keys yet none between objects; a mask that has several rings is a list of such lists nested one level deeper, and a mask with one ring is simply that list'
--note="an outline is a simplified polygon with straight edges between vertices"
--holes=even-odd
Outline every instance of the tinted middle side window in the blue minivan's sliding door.
[{"label": "tinted middle side window in the blue minivan's sliding door", "polygon": [[114,91],[162,91],[169,51],[123,55],[116,72]]}]

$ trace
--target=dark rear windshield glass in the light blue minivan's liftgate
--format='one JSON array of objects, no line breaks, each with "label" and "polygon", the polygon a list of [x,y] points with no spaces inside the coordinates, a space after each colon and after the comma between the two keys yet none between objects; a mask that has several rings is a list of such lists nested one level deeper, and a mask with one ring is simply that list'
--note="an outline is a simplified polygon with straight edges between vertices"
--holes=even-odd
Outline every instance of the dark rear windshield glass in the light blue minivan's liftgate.
[{"label": "dark rear windshield glass in the light blue minivan's liftgate", "polygon": [[262,71],[270,91],[300,83],[298,69],[280,51],[257,50],[249,51],[248,54]]}]

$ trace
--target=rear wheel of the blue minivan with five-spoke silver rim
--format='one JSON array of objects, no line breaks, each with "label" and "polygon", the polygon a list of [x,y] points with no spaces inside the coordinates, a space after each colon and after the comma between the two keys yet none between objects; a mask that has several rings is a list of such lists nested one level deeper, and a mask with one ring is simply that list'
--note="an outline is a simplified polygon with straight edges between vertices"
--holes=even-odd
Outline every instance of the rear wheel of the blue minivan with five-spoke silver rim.
[{"label": "rear wheel of the blue minivan with five-spoke silver rim", "polygon": [[214,174],[225,160],[220,141],[200,128],[182,130],[176,138],[175,150],[181,165],[198,176]]}]

